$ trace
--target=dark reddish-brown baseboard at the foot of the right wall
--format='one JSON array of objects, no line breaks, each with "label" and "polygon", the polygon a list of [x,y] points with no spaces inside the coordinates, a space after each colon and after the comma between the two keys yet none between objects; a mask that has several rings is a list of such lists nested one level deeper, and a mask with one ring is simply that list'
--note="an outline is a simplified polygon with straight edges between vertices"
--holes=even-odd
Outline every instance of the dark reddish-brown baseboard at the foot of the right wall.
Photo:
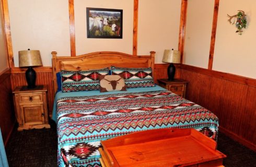
[{"label": "dark reddish-brown baseboard at the foot of the right wall", "polygon": [[256,152],[256,145],[251,143],[250,141],[247,141],[246,139],[230,132],[229,130],[227,130],[226,128],[219,126],[219,131],[224,133],[225,135],[227,135],[228,137],[240,142],[240,144],[252,149],[253,151]]}]

